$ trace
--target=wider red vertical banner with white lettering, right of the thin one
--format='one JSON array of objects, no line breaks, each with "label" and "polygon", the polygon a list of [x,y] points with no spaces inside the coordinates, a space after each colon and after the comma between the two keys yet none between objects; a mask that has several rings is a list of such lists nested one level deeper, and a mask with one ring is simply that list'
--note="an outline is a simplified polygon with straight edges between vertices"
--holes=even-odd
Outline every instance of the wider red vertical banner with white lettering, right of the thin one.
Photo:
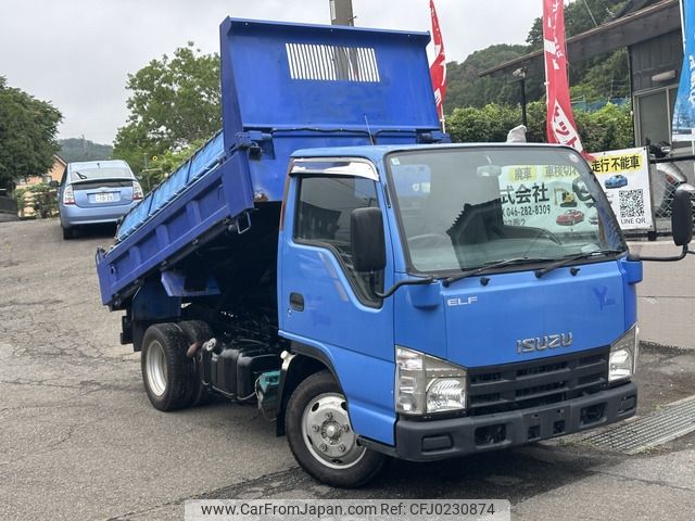
[{"label": "wider red vertical banner with white lettering, right of the thin one", "polygon": [[543,0],[543,48],[547,90],[547,142],[572,147],[587,155],[582,147],[569,98],[565,47],[564,0]]}]

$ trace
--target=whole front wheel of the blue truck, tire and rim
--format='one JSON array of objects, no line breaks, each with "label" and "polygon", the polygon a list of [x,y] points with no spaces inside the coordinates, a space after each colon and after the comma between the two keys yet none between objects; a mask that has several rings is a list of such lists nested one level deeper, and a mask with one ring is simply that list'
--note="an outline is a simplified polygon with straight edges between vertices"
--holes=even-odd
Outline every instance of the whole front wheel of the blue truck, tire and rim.
[{"label": "whole front wheel of the blue truck, tire and rim", "polygon": [[285,428],[296,461],[328,485],[364,485],[383,466],[382,454],[357,444],[345,397],[329,371],[298,385],[287,405]]}]

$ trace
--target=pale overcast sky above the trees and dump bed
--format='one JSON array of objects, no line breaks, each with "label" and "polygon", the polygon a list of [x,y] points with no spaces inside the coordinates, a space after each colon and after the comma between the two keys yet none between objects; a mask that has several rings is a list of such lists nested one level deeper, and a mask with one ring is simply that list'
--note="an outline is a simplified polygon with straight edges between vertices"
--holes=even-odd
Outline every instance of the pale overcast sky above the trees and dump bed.
[{"label": "pale overcast sky above the trees and dump bed", "polygon": [[[523,43],[542,0],[435,0],[446,60]],[[430,30],[429,0],[353,0],[355,25]],[[112,143],[125,88],[188,41],[218,52],[226,16],[330,24],[329,0],[0,0],[0,76],[63,113],[59,138]]]}]

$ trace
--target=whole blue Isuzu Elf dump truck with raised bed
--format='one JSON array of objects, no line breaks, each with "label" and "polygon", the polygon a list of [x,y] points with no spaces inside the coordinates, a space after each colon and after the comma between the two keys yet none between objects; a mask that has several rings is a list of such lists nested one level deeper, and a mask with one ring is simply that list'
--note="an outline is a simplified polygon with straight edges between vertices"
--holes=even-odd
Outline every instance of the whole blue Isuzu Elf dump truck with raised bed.
[{"label": "whole blue Isuzu Elf dump truck with raised bed", "polygon": [[334,486],[635,414],[642,264],[579,154],[451,144],[427,34],[220,36],[223,130],[97,252],[155,408],[256,404]]}]

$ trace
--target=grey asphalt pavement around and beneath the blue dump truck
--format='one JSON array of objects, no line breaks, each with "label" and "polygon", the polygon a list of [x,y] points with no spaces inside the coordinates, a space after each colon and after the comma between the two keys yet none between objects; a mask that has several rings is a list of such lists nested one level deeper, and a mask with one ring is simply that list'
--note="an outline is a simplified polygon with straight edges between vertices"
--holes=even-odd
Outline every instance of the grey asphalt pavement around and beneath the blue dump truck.
[{"label": "grey asphalt pavement around and beneath the blue dump truck", "polygon": [[[188,498],[504,498],[515,520],[692,519],[694,433],[636,456],[559,439],[390,461],[343,491],[299,469],[253,406],[156,411],[139,355],[118,343],[119,315],[99,301],[93,253],[112,233],[63,241],[55,220],[0,224],[2,520],[182,519]],[[641,416],[695,394],[692,268],[692,256],[645,264],[642,338],[662,345],[643,344]]]}]

